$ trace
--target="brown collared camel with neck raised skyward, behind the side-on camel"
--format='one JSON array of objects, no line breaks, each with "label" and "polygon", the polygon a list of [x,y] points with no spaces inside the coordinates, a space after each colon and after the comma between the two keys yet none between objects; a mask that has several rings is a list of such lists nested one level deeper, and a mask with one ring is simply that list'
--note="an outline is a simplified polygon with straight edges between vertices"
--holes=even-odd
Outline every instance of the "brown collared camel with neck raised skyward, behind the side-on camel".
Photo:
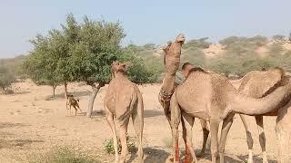
[{"label": "brown collared camel with neck raised skyward, behind the side-on camel", "polygon": [[[165,58],[164,58],[164,63],[165,63],[165,77],[163,80],[163,84],[161,87],[161,90],[159,92],[159,96],[158,96],[158,100],[161,103],[165,115],[166,115],[166,119],[168,120],[168,122],[170,123],[171,121],[171,115],[170,115],[170,99],[172,97],[172,94],[174,93],[177,83],[175,82],[175,76],[176,76],[176,71],[179,67],[179,63],[180,63],[180,54],[181,54],[181,48],[183,43],[185,42],[185,37],[183,34],[178,34],[176,37],[176,40],[174,43],[168,42],[168,44],[166,45],[166,47],[163,49],[165,52]],[[184,127],[184,121],[182,120],[182,126]],[[204,136],[208,137],[208,133],[209,133],[209,129],[207,129],[207,125],[205,123],[205,121],[201,121],[201,125],[203,127],[203,131],[204,131]],[[186,129],[183,129],[186,131]],[[183,139],[186,142],[186,132],[183,133]],[[207,139],[207,138],[204,138]],[[206,142],[205,142],[206,143]],[[202,149],[202,151],[204,152],[205,149]],[[187,144],[186,144],[186,161],[188,161],[188,154],[189,154],[189,150],[187,148]],[[172,156],[170,156],[171,158]]]}]

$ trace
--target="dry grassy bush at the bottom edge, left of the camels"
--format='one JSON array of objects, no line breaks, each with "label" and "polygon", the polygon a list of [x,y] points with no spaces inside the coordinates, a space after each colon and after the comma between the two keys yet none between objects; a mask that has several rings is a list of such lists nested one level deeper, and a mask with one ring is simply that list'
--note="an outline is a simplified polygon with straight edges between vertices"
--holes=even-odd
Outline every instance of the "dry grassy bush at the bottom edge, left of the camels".
[{"label": "dry grassy bush at the bottom edge, left of the camels", "polygon": [[30,163],[99,163],[93,157],[72,147],[56,147],[45,154],[30,157]]}]

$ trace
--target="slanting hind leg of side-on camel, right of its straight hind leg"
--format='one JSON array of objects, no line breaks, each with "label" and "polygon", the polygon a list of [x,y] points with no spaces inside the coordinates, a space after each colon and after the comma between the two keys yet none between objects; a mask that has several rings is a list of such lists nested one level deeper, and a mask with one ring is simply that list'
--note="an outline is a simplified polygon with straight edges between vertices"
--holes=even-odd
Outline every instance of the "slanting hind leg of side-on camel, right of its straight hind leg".
[{"label": "slanting hind leg of side-on camel, right of its straight hind leg", "polygon": [[[182,118],[185,123],[185,129],[186,129],[186,154],[190,151],[191,157],[193,158],[194,162],[198,162],[196,158],[196,154],[193,149],[193,143],[192,143],[192,128],[194,124],[194,118],[190,115],[186,114],[185,112],[182,112]],[[186,155],[185,154],[185,155]],[[185,162],[189,163],[192,162],[191,158],[185,158]]]}]

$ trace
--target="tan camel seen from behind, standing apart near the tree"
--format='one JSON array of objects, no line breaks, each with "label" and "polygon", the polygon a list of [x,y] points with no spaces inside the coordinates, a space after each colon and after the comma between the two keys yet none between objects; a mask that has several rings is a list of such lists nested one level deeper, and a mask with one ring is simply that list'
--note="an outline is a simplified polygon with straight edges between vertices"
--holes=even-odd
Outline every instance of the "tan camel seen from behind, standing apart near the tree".
[{"label": "tan camel seen from behind, standing apart near the tree", "polygon": [[[144,162],[143,129],[144,129],[144,103],[141,92],[138,90],[135,83],[130,82],[125,70],[128,63],[113,62],[111,69],[113,79],[109,83],[105,93],[105,118],[112,130],[115,148],[115,162],[125,162],[128,153],[126,143],[126,132],[128,121],[131,117],[133,120],[135,133],[138,141],[138,160]],[[118,138],[120,139],[122,151],[121,156],[118,156]]]}]

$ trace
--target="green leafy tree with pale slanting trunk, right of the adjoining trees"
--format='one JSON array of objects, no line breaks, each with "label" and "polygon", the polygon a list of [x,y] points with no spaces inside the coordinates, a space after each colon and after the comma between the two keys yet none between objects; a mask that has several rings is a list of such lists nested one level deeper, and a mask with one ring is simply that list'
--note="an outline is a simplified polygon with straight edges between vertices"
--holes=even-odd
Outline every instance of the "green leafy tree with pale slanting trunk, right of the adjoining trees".
[{"label": "green leafy tree with pale slanting trunk, right of the adjoining trees", "polygon": [[85,16],[76,37],[68,62],[75,81],[84,81],[92,88],[86,114],[91,117],[97,92],[111,79],[111,63],[122,53],[125,34],[118,22],[97,22]]}]

